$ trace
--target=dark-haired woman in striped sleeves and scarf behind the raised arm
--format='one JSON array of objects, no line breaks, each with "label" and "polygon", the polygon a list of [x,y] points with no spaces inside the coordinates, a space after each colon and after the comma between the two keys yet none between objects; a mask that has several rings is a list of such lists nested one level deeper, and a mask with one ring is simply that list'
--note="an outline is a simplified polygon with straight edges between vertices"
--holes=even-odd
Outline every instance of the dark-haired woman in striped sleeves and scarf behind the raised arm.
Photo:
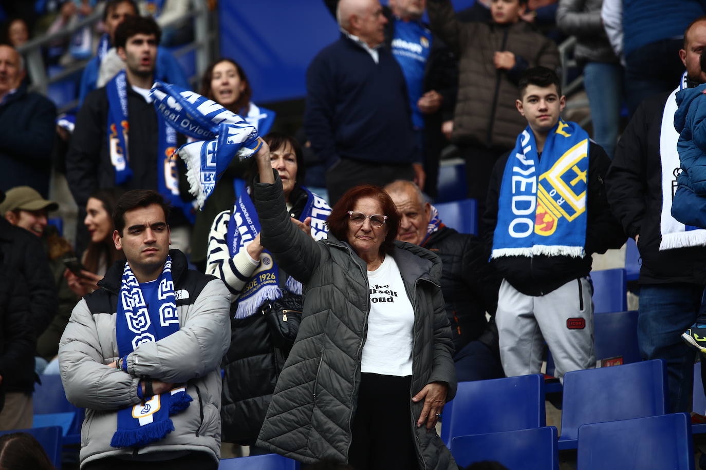
[{"label": "dark-haired woman in striped sleeves and scarf behind the raised arm", "polygon": [[[277,132],[270,132],[264,140],[272,149],[270,168],[282,180],[289,216],[301,222],[313,217],[319,223],[310,224],[311,235],[325,237],[323,222],[330,209],[321,197],[301,185],[304,162],[299,144]],[[268,453],[258,449],[255,441],[277,376],[292,346],[291,342],[277,344],[265,315],[272,314],[273,309],[278,310],[275,314],[287,310],[301,312],[302,299],[301,284],[273,262],[272,255],[260,242],[260,221],[251,199],[257,166],[254,159],[248,163],[251,164],[249,183],[231,208],[213,221],[206,273],[220,278],[234,295],[230,348],[222,361],[222,440],[249,445],[250,454],[255,455]]]}]

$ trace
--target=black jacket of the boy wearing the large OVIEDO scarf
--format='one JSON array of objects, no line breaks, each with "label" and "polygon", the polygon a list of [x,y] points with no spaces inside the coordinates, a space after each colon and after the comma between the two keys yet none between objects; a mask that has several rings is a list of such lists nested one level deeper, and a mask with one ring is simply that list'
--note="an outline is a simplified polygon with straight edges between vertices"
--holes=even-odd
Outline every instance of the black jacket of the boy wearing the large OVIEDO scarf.
[{"label": "black jacket of the boy wearing the large OVIEDO scarf", "polygon": [[[489,183],[487,207],[483,215],[488,249],[493,246],[493,233],[498,221],[498,194],[509,156],[510,152],[498,159]],[[606,200],[604,178],[610,159],[600,145],[590,142],[588,161],[586,256],[502,256],[492,260],[491,264],[498,273],[525,295],[549,294],[572,279],[588,276],[592,253],[620,248],[627,239]]]}]

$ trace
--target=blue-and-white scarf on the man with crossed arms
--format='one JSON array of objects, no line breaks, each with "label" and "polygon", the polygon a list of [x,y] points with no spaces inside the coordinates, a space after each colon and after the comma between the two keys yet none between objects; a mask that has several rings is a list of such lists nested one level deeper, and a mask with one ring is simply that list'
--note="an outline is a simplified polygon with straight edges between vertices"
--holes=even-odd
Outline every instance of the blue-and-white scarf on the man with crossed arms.
[{"label": "blue-and-white scarf on the man with crossed arms", "polygon": [[[159,341],[179,331],[171,256],[167,256],[156,282],[152,296],[145,299],[130,265],[125,263],[115,321],[119,357],[130,354],[143,342]],[[191,401],[182,386],[161,395],[145,397],[145,402],[133,407],[119,409],[117,429],[110,445],[144,447],[164,438],[174,431],[169,416],[188,408]]]}]

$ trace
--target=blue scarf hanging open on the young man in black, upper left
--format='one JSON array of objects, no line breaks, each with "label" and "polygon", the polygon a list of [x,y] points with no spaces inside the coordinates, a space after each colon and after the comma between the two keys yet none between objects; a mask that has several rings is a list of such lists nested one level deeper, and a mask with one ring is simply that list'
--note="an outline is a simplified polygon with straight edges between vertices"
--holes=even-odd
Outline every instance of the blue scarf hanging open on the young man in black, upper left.
[{"label": "blue scarf hanging open on the young man in black, upper left", "polygon": [[[125,70],[121,70],[106,85],[108,97],[108,149],[115,170],[115,184],[122,185],[132,179],[129,165],[128,135],[128,82]],[[159,128],[157,142],[157,190],[173,207],[184,212],[193,223],[196,220],[192,204],[184,202],[179,195],[179,171],[177,169],[177,132],[167,125],[162,114],[157,113]]]}]

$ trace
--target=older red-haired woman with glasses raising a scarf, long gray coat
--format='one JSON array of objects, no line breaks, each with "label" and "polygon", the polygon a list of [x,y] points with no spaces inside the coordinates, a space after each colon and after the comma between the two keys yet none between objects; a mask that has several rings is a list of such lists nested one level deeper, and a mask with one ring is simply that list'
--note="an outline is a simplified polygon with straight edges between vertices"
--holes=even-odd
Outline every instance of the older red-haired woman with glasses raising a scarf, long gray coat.
[{"label": "older red-haired woman with glasses raising a scarf, long gray coat", "polygon": [[335,204],[326,240],[289,217],[266,144],[253,202],[261,244],[304,285],[299,335],[257,445],[306,464],[456,469],[435,425],[456,390],[441,261],[395,241],[400,217],[381,188]]}]

